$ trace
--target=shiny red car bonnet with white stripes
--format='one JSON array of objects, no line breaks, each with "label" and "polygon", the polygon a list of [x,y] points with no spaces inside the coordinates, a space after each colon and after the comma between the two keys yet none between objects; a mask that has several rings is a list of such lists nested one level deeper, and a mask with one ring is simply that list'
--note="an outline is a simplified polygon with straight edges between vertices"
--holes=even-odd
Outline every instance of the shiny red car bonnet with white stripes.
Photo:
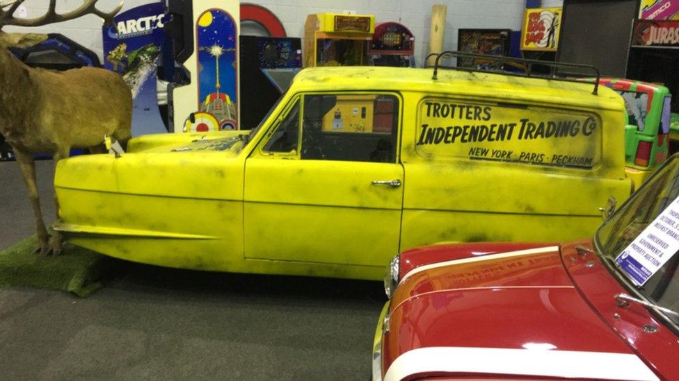
[{"label": "shiny red car bonnet with white stripes", "polygon": [[[484,253],[496,253],[498,245],[472,244],[473,251]],[[463,248],[453,255],[456,259],[449,256],[445,262],[417,266],[404,274],[390,305],[389,332],[382,344],[383,369],[420,348],[468,348],[485,349],[495,356],[490,353],[495,349],[500,353],[515,350],[511,355],[549,350],[550,355],[575,353],[583,359],[613,355],[614,362],[624,359],[632,368],[653,375],[582,298],[564,268],[558,246],[514,244],[513,252],[465,258],[461,253],[472,251],[469,246],[451,246]],[[430,255],[441,255],[437,251]],[[456,359],[446,361],[453,364]],[[465,369],[465,364],[460,371],[487,372]],[[525,371],[506,374],[547,375]]]}]

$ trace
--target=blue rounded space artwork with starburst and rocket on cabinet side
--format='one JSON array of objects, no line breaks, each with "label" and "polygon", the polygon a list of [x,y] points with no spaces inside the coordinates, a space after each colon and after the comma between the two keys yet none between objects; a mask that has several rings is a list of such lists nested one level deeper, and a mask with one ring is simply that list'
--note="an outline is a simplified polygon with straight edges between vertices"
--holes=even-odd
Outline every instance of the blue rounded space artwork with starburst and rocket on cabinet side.
[{"label": "blue rounded space artwork with starburst and rocket on cabinet side", "polygon": [[238,129],[237,23],[225,10],[198,17],[198,111],[184,124],[186,132]]}]

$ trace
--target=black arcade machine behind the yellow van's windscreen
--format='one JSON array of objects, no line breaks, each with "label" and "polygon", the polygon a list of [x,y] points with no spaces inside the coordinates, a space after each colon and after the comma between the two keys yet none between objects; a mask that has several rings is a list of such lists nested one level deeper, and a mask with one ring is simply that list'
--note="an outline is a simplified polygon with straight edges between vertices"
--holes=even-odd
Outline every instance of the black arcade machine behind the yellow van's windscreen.
[{"label": "black arcade machine behind the yellow van's windscreen", "polygon": [[241,35],[241,129],[255,128],[302,68],[299,38]]}]

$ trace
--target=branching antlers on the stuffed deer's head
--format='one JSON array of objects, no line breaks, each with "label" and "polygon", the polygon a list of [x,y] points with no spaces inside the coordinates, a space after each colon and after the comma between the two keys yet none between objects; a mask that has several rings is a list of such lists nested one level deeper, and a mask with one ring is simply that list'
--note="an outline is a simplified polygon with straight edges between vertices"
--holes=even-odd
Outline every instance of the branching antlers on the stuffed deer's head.
[{"label": "branching antlers on the stuffed deer's head", "polygon": [[[0,28],[5,25],[41,26],[54,22],[76,19],[83,15],[89,15],[90,13],[104,19],[104,25],[113,24],[113,17],[120,12],[124,0],[120,0],[118,6],[113,8],[110,12],[102,12],[97,9],[97,1],[99,0],[83,0],[83,3],[78,8],[65,13],[57,13],[55,10],[56,0],[49,0],[49,6],[45,15],[33,19],[20,19],[14,17],[14,12],[24,1],[26,0],[14,0],[8,3],[0,3]],[[3,10],[3,8],[7,7],[9,7],[7,10]]]}]

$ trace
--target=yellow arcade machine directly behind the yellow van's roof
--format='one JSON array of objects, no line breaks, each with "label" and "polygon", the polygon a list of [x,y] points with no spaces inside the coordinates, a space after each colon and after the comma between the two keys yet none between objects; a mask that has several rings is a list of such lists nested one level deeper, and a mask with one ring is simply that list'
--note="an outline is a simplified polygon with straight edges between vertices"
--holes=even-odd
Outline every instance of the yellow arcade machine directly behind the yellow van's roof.
[{"label": "yellow arcade machine directly behind the yellow van's roof", "polygon": [[374,32],[373,15],[308,15],[304,24],[304,67],[367,65]]}]

